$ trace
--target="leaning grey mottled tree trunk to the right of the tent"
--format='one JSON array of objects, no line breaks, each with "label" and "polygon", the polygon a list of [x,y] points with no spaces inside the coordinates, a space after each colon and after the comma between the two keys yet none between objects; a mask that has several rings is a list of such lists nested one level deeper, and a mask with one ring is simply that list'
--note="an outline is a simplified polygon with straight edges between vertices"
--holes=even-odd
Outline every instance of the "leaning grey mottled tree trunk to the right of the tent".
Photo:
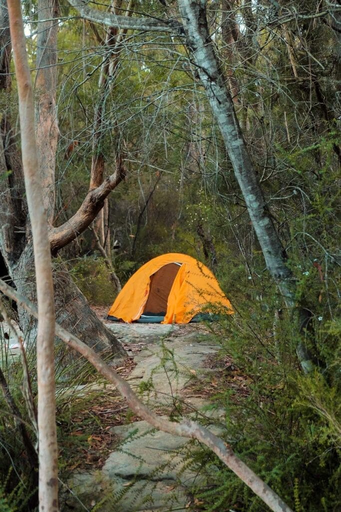
[{"label": "leaning grey mottled tree trunk to the right of the tent", "polygon": [[[234,103],[219,68],[208,29],[206,2],[178,0],[178,7],[192,61],[217,119],[235,177],[262,248],[266,266],[276,281],[287,308],[292,310],[295,306],[293,276],[286,265],[284,247],[269,215],[255,167],[247,151]],[[304,371],[309,371],[312,367],[311,357],[302,343],[297,347],[297,354]]]}]

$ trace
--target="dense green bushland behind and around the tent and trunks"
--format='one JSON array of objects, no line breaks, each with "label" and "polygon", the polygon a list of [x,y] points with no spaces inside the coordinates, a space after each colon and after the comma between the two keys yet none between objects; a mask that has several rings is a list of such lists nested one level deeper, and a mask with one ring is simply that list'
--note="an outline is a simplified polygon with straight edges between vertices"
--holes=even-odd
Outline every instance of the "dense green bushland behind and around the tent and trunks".
[{"label": "dense green bushland behind and around the tent and trunks", "polygon": [[[226,442],[295,512],[340,510],[341,25],[339,4],[335,12],[332,4],[208,2],[216,51],[297,283],[297,301],[307,311],[301,335],[315,361],[308,375],[295,353],[297,330],[269,278],[216,121],[181,42],[128,32],[110,87],[100,97],[104,29],[68,19],[63,8],[58,34],[54,224],[70,218],[87,193],[95,111],[102,101],[98,135],[105,174],[111,174],[118,152],[126,167],[125,180],[95,222],[107,256],[122,284],[164,252],[190,254],[215,272],[236,309],[233,318],[212,325],[221,346],[219,371],[223,378],[229,372],[223,361],[232,359],[247,394],[238,396],[226,382],[212,408],[226,411]],[[32,35],[37,6],[27,2],[25,8]],[[135,9],[164,17],[156,0]],[[32,36],[32,63],[35,45]],[[2,93],[0,101],[11,101],[15,120],[15,95]],[[60,262],[90,303],[113,302],[117,291],[93,231],[63,248],[56,266]],[[29,422],[20,367],[7,365],[5,352],[2,357],[11,393]],[[34,382],[34,366],[30,370]],[[7,410],[2,397],[0,407]],[[27,490],[30,472],[10,413],[2,413],[0,442],[2,509],[30,510],[34,490]],[[212,454],[202,450],[194,460],[190,455],[189,463],[207,474],[196,509],[264,510]]]}]

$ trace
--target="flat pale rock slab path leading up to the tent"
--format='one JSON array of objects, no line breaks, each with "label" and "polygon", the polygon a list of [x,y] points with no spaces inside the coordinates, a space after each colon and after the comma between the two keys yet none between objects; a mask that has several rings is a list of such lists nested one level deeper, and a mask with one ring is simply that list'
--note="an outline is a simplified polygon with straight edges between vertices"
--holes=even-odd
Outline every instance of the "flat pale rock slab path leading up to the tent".
[{"label": "flat pale rock slab path leading up to the tent", "polygon": [[[143,344],[134,354],[137,366],[128,381],[137,390],[141,382],[152,381],[145,395],[151,407],[170,411],[174,400],[184,400],[189,411],[200,409],[204,401],[185,398],[188,383],[203,378],[208,355],[217,351],[212,336],[200,325],[165,326],[145,324],[108,325],[118,338]],[[161,364],[161,361],[163,364]],[[213,430],[216,427],[212,426]],[[188,511],[191,487],[199,476],[184,468],[188,439],[153,431],[145,421],[114,426],[111,432],[120,443],[101,470],[76,472],[65,494],[62,510],[83,512],[177,512]]]}]

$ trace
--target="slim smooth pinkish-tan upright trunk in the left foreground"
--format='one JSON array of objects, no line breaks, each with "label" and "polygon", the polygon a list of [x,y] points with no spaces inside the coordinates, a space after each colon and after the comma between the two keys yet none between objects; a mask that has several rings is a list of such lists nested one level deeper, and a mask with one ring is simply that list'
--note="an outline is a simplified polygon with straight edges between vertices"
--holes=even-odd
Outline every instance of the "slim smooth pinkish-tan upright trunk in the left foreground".
[{"label": "slim smooth pinkish-tan upright trunk in the left foreground", "polygon": [[38,300],[37,379],[39,510],[58,512],[58,459],[54,371],[55,306],[51,252],[43,206],[35,139],[33,91],[26,53],[21,2],[7,2],[18,87],[21,153],[30,214]]}]

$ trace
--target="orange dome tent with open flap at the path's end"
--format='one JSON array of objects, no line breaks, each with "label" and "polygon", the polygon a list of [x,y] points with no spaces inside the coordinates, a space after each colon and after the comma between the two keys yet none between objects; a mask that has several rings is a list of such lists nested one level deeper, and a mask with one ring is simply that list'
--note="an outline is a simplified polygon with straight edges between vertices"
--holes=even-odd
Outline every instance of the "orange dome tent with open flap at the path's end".
[{"label": "orange dome tent with open flap at the path's end", "polygon": [[187,324],[199,313],[217,312],[233,314],[233,309],[211,270],[173,252],[150,260],[131,276],[108,318]]}]

